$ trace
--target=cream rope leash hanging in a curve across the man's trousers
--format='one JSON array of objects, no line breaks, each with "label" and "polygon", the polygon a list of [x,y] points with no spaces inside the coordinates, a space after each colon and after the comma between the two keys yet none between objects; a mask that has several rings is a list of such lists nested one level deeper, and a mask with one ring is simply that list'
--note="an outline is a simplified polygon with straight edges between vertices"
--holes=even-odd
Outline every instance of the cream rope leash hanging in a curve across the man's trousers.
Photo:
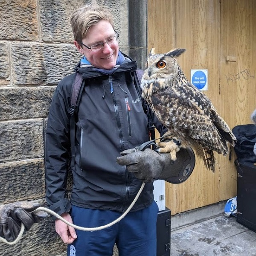
[{"label": "cream rope leash hanging in a curve across the man's trousers", "polygon": [[[134,200],[132,201],[131,205],[127,208],[127,210],[119,217],[117,218],[116,220],[112,221],[111,223],[109,224],[106,224],[104,226],[100,226],[100,227],[80,227],[80,226],[77,226],[73,223],[70,223],[68,221],[66,221],[64,218],[62,218],[60,215],[58,215],[56,212],[53,212],[52,210],[48,209],[48,208],[45,208],[45,207],[38,207],[37,209],[35,209],[35,211],[44,211],[44,212],[47,212],[53,216],[55,216],[56,218],[60,219],[61,221],[63,221],[64,223],[66,223],[68,226],[70,227],[73,227],[77,230],[82,230],[82,231],[97,231],[97,230],[103,230],[107,227],[111,227],[113,226],[114,224],[116,224],[117,222],[121,221],[122,218],[124,218],[128,212],[130,212],[131,208],[134,206],[134,204],[136,203],[136,201],[138,200],[143,188],[145,186],[145,183],[143,182],[141,187],[140,187],[140,190],[138,191],[136,197],[134,198]],[[17,242],[22,238],[23,236],[23,233],[25,231],[25,227],[24,225],[21,223],[21,229],[20,229],[20,233],[19,235],[17,236],[17,238],[12,241],[12,242],[9,242],[7,241],[6,239],[4,239],[3,237],[0,237],[0,241],[3,241],[4,243],[6,244],[9,244],[9,245],[12,245],[12,244],[17,244]]]}]

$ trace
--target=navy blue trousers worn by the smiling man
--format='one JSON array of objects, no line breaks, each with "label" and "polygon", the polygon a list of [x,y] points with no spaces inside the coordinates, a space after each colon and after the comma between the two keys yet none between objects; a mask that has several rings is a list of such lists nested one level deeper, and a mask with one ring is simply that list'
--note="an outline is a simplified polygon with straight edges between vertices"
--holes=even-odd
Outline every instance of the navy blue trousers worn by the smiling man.
[{"label": "navy blue trousers worn by the smiling man", "polygon": [[[157,212],[155,201],[150,207],[128,214],[103,230],[76,230],[77,239],[69,244],[67,256],[112,256],[116,244],[119,256],[156,256]],[[110,210],[84,209],[73,206],[73,223],[81,227],[99,227],[122,215]]]}]

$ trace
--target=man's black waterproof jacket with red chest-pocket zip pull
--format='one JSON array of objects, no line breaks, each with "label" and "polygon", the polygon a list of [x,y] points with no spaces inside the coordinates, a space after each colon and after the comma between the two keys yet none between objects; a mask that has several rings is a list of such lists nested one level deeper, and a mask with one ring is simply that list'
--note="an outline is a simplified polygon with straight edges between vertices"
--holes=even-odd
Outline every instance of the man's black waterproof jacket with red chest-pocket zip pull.
[{"label": "man's black waterproof jacket with red chest-pocket zip pull", "polygon": [[[111,76],[91,67],[76,67],[85,79],[85,86],[76,119],[72,205],[123,212],[140,189],[140,180],[116,163],[121,151],[149,140],[148,118],[134,85],[136,68],[136,62],[128,58]],[[47,122],[46,199],[50,209],[58,214],[68,212],[71,207],[66,198],[66,182],[74,79],[75,73],[58,84]],[[153,119],[162,134],[162,125],[154,116]],[[148,207],[153,199],[153,184],[146,183],[132,211]]]}]

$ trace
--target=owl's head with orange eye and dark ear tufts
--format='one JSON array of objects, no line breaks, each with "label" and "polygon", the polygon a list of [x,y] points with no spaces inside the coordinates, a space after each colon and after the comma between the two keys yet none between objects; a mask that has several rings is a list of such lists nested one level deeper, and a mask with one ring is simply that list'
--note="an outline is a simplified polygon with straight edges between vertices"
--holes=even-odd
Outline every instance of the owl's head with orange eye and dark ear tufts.
[{"label": "owl's head with orange eye and dark ear tufts", "polygon": [[186,49],[172,49],[163,54],[156,54],[154,48],[151,49],[147,68],[145,69],[143,79],[169,78],[178,73],[178,64],[175,57],[180,56]]}]

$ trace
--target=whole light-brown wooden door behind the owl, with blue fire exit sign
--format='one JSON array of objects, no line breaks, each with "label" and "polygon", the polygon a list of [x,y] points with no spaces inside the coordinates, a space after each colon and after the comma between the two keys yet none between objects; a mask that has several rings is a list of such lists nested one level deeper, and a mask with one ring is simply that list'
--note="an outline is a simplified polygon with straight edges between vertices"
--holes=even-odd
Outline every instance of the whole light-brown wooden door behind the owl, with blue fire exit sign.
[{"label": "whole light-brown wooden door behind the owl, with blue fire exit sign", "polygon": [[[167,52],[186,48],[177,59],[181,68],[189,80],[192,69],[208,70],[208,90],[204,93],[230,128],[250,122],[250,113],[256,108],[255,2],[148,0],[148,49],[155,47],[156,52]],[[226,61],[226,56],[235,54],[238,61]],[[241,81],[231,81],[239,72]],[[172,214],[236,195],[235,156],[231,161],[218,154],[215,157],[215,173],[196,159],[195,170],[186,182],[166,183],[166,206]]]}]

